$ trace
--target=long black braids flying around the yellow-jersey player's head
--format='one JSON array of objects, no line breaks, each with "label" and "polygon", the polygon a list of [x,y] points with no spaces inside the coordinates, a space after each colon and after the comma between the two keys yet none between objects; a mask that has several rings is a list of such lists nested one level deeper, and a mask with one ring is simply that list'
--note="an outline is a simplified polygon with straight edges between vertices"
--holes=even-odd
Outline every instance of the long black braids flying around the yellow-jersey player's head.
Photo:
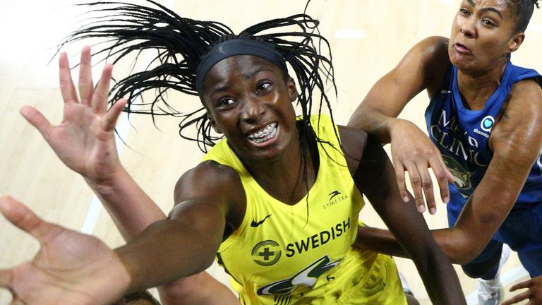
[{"label": "long black braids flying around the yellow-jersey player's head", "polygon": [[[298,88],[298,104],[301,107],[303,128],[300,138],[315,138],[311,126],[311,111],[315,89],[319,93],[318,113],[329,109],[330,99],[326,94],[327,80],[335,91],[332,56],[329,42],[318,32],[318,20],[298,14],[287,18],[267,20],[235,34],[227,25],[215,21],[200,21],[183,18],[169,8],[153,0],[145,0],[151,6],[131,4],[124,1],[97,1],[79,6],[90,6],[91,22],[68,35],[59,49],[67,43],[90,38],[105,39],[101,47],[93,51],[92,57],[102,56],[116,64],[128,54],[135,54],[133,67],[145,51],[155,51],[145,71],[131,73],[116,80],[110,94],[113,104],[121,97],[128,98],[124,109],[128,114],[169,115],[181,118],[179,135],[198,142],[200,150],[215,145],[222,136],[213,135],[210,121],[204,107],[191,112],[179,111],[167,101],[167,92],[176,90],[188,95],[198,95],[196,90],[196,69],[206,52],[215,44],[239,37],[246,37],[272,44],[282,54],[294,71]],[[308,3],[307,3],[308,5]],[[294,28],[292,30],[291,28]],[[324,49],[325,54],[321,54]],[[103,60],[102,59],[102,60]],[[155,90],[150,102],[142,98],[147,90]],[[195,126],[197,136],[188,136],[185,129]],[[337,136],[338,138],[338,136]],[[318,140],[317,140],[318,141]],[[304,145],[301,145],[304,148]],[[303,150],[303,155],[306,152]]]}]

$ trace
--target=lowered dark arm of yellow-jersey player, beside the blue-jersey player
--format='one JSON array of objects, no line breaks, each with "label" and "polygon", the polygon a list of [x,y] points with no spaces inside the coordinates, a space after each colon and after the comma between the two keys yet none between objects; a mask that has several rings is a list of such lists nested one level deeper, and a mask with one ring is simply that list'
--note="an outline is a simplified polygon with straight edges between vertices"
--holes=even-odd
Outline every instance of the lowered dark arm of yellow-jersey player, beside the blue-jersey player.
[{"label": "lowered dark arm of yellow-jersey player, beside the blue-jersey player", "polygon": [[[363,131],[341,129],[342,144],[349,155],[349,167],[356,186],[412,258],[434,304],[465,304],[452,264],[431,236],[423,217],[413,205],[405,204],[395,183],[393,166],[382,146],[368,140],[361,160]],[[357,147],[357,150],[356,150]],[[356,153],[358,152],[358,153]]]}]

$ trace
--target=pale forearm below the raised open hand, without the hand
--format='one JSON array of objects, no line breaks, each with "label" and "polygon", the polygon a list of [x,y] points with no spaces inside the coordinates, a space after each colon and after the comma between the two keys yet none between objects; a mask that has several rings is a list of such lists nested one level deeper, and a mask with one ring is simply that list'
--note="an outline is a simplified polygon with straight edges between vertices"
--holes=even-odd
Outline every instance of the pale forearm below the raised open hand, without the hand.
[{"label": "pale forearm below the raised open hand, without the hand", "polygon": [[148,225],[166,217],[124,167],[120,166],[107,181],[85,180],[126,241],[131,241]]}]

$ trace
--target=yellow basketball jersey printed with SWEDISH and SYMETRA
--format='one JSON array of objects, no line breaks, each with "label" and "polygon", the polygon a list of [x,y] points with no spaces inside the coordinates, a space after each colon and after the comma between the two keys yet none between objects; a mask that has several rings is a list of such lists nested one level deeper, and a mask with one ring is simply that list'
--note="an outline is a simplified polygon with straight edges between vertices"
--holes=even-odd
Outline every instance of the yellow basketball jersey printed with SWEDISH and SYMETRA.
[{"label": "yellow basketball jersey printed with SWEDISH and SYMETRA", "polygon": [[363,197],[336,126],[328,116],[311,121],[318,138],[330,144],[318,145],[318,176],[294,205],[262,189],[227,140],[205,155],[239,173],[247,199],[241,226],[219,247],[219,264],[242,304],[406,304],[392,259],[351,247]]}]

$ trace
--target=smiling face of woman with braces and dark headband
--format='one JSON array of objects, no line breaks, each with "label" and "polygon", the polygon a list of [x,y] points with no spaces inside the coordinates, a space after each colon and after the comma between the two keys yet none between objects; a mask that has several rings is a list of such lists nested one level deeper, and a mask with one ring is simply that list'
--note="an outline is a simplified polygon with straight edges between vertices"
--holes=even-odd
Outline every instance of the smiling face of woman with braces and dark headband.
[{"label": "smiling face of woman with braces and dark headband", "polygon": [[270,61],[231,56],[207,74],[203,104],[243,160],[270,162],[298,141],[294,81]]}]

